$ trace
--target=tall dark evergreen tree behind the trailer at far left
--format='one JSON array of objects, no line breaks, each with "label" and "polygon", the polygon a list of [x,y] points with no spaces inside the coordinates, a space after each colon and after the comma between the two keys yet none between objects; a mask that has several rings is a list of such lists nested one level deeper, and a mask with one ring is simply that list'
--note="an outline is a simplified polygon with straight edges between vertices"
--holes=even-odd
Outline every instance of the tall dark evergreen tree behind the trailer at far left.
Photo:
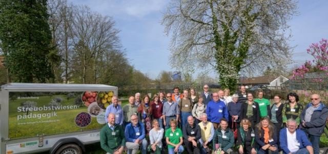
[{"label": "tall dark evergreen tree behind the trailer at far left", "polygon": [[0,1],[0,40],[14,82],[46,82],[51,32],[47,1]]}]

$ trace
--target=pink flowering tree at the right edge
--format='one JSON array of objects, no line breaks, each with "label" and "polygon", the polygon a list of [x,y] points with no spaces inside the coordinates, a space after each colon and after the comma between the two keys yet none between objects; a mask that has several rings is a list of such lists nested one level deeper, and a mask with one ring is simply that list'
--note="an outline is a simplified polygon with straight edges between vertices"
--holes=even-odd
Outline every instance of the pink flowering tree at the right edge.
[{"label": "pink flowering tree at the right edge", "polygon": [[292,80],[304,90],[305,98],[302,101],[310,102],[309,95],[314,92],[320,93],[323,101],[328,101],[328,41],[322,38],[306,51],[313,56],[313,60],[296,68]]}]

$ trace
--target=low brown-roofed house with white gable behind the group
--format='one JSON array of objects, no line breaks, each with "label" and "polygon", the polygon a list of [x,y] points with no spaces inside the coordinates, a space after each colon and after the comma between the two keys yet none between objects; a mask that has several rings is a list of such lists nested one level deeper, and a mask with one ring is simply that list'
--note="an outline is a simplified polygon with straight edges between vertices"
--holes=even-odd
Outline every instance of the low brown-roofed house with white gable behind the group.
[{"label": "low brown-roofed house with white gable behind the group", "polygon": [[265,86],[269,89],[279,89],[281,84],[288,81],[289,79],[283,75],[280,76],[257,76],[252,78],[241,78],[239,85],[254,87],[254,86]]}]

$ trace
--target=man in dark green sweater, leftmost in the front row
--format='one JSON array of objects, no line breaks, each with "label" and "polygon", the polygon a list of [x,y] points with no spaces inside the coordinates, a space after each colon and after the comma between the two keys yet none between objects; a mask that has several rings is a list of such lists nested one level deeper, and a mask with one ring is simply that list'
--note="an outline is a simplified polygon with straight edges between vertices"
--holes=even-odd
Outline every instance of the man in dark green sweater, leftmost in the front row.
[{"label": "man in dark green sweater, leftmost in the front row", "polygon": [[122,126],[115,124],[115,114],[108,115],[108,124],[100,130],[100,145],[107,154],[121,154],[125,147],[125,136]]}]

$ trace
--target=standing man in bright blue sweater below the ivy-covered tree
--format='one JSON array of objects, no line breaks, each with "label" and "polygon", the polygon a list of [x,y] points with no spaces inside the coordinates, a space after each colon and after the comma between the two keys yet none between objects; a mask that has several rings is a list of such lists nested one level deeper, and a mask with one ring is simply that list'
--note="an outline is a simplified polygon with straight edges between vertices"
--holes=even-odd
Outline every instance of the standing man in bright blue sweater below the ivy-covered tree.
[{"label": "standing man in bright blue sweater below the ivy-covered tree", "polygon": [[213,100],[207,105],[206,114],[208,121],[213,123],[215,129],[217,129],[222,118],[229,118],[228,108],[224,102],[219,100],[219,94],[217,92],[213,93]]}]

